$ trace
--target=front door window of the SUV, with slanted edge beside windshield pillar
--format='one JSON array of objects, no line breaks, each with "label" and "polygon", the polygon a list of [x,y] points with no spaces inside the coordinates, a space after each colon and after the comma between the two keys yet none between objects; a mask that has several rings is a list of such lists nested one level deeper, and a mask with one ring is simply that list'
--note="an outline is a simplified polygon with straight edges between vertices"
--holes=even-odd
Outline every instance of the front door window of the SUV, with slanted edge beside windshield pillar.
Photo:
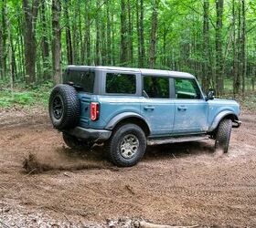
[{"label": "front door window of the SUV, with slanted edge beside windshield pillar", "polygon": [[176,98],[189,98],[198,99],[201,98],[200,89],[197,86],[197,82],[194,79],[189,78],[176,78]]}]

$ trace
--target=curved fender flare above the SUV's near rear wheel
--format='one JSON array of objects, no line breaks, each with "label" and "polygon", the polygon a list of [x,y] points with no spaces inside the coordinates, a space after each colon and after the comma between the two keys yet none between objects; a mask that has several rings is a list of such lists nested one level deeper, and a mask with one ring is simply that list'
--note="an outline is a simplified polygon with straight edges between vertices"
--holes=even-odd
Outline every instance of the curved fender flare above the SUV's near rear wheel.
[{"label": "curved fender flare above the SUV's near rear wheel", "polygon": [[114,127],[115,127],[118,123],[120,123],[123,119],[129,119],[129,118],[135,118],[135,119],[140,119],[140,120],[144,121],[144,124],[147,126],[149,132],[151,132],[151,130],[150,130],[150,125],[149,125],[148,122],[143,118],[143,116],[141,116],[141,115],[138,114],[138,113],[130,112],[130,111],[120,113],[120,114],[116,115],[115,117],[113,117],[113,118],[107,123],[105,129],[106,129],[106,130],[113,130]]}]

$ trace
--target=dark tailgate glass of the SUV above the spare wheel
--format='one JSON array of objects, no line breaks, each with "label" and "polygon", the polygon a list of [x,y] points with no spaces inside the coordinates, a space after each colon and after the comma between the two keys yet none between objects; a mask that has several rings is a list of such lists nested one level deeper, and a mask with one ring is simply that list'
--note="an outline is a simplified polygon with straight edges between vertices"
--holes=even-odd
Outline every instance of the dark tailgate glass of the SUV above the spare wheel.
[{"label": "dark tailgate glass of the SUV above the spare wheel", "polygon": [[95,74],[91,71],[67,70],[63,75],[63,83],[72,83],[75,87],[93,93]]}]

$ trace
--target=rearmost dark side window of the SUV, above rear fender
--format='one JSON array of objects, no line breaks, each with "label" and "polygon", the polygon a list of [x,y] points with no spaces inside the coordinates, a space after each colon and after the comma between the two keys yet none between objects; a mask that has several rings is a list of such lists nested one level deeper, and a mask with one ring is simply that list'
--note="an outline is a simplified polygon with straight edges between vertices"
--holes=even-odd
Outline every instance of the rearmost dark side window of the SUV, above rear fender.
[{"label": "rearmost dark side window of the SUV, above rear fender", "polygon": [[136,76],[130,74],[107,73],[106,93],[135,94]]}]

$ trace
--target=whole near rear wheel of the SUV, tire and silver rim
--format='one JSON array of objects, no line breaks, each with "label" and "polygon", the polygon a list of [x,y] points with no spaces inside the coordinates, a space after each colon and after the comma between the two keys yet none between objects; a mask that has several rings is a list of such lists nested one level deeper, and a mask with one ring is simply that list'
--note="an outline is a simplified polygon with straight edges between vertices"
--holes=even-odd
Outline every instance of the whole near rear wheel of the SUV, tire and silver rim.
[{"label": "whole near rear wheel of the SUV, tire and silver rim", "polygon": [[144,131],[135,124],[125,124],[114,130],[107,142],[110,160],[121,167],[135,165],[144,156],[145,149]]}]

